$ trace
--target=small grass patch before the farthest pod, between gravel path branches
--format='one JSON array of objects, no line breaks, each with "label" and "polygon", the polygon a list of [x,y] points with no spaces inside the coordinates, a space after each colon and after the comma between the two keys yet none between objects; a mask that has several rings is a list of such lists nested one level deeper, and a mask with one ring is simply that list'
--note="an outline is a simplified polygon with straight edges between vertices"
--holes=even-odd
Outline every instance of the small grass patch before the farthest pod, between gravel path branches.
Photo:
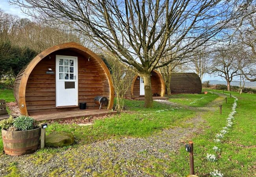
[{"label": "small grass patch before the farthest pod, between gravel path branches", "polygon": [[169,101],[187,105],[191,107],[204,107],[218,96],[208,92],[208,94],[176,94],[169,97]]}]

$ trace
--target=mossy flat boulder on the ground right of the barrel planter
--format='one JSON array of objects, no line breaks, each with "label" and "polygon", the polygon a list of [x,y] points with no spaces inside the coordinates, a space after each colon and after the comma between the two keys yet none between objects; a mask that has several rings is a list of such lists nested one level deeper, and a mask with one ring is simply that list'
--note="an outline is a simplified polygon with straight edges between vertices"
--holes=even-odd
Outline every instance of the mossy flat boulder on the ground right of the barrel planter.
[{"label": "mossy flat boulder on the ground right of the barrel planter", "polygon": [[71,133],[58,131],[45,136],[45,145],[48,147],[63,147],[74,143],[74,136]]}]

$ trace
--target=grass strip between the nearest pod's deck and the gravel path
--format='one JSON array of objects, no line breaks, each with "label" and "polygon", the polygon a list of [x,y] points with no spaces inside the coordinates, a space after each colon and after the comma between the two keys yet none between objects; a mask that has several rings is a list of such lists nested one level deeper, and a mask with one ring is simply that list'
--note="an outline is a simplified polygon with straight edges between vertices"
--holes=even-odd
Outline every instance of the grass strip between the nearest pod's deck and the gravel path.
[{"label": "grass strip between the nearest pod's deck and the gravel path", "polygon": [[96,120],[92,126],[81,127],[76,124],[49,125],[46,133],[52,131],[73,132],[78,141],[91,142],[120,136],[143,137],[171,126],[186,126],[185,120],[195,116],[195,111],[175,108],[154,101],[154,108],[143,107],[144,101],[125,100],[130,110],[120,115]]}]

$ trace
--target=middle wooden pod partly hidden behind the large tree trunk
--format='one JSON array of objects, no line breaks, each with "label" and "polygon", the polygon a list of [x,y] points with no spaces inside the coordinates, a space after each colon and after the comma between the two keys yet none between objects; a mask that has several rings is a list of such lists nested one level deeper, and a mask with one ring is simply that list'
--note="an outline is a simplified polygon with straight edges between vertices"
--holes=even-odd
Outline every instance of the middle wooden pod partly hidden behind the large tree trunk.
[{"label": "middle wooden pod partly hidden behind the large tree trunk", "polygon": [[[145,90],[143,78],[137,74],[132,73],[130,70],[123,70],[124,79],[130,79],[131,83],[125,94],[126,98],[135,100],[144,100]],[[151,72],[151,87],[153,100],[168,99],[165,95],[165,82],[163,77],[157,70]]]}]

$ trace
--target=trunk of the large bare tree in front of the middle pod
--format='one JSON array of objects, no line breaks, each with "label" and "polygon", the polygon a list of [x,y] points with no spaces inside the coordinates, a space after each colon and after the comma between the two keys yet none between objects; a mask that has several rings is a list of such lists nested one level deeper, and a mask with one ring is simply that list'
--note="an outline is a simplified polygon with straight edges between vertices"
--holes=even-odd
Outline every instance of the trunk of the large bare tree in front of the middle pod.
[{"label": "trunk of the large bare tree in front of the middle pod", "polygon": [[143,75],[144,80],[144,90],[145,90],[145,107],[153,107],[153,96],[152,96],[152,88],[151,88],[151,74]]}]

